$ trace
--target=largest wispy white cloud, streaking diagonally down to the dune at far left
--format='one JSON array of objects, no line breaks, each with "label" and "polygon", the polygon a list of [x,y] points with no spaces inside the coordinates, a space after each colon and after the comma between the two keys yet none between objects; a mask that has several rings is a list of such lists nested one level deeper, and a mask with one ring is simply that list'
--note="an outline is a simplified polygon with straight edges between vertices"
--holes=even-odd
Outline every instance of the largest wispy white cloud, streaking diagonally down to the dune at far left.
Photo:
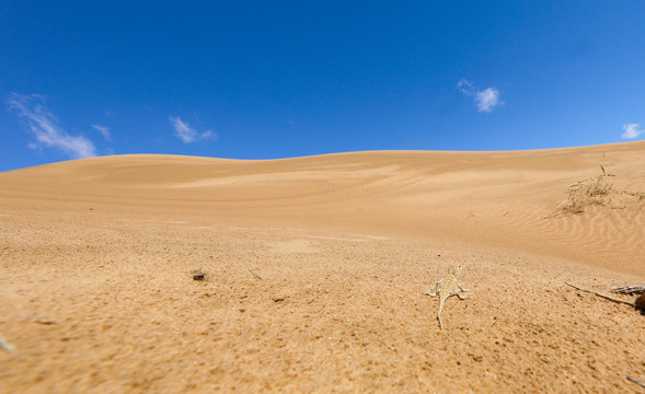
[{"label": "largest wispy white cloud, streaking diagonally down to the dune at far left", "polygon": [[57,148],[72,159],[96,155],[92,141],[83,136],[70,136],[57,125],[56,116],[47,109],[42,95],[12,93],[7,104],[25,121],[36,138],[36,142],[28,144],[31,148]]}]

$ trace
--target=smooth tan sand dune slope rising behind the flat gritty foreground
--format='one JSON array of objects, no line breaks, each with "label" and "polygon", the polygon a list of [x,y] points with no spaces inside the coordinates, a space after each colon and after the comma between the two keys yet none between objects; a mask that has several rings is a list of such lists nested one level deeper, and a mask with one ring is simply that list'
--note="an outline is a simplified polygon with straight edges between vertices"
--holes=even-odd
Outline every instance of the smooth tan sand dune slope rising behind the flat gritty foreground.
[{"label": "smooth tan sand dune slope rising behind the flat gritty foreground", "polygon": [[[546,251],[645,276],[645,143],[518,152],[377,151],[270,161],[124,155],[1,174],[5,198],[151,206]],[[606,202],[571,187],[612,172]],[[579,198],[579,197],[578,197]],[[554,215],[565,209],[563,213]],[[568,212],[566,211],[568,209]],[[579,210],[579,211],[577,211]],[[544,220],[549,218],[549,220]]]}]

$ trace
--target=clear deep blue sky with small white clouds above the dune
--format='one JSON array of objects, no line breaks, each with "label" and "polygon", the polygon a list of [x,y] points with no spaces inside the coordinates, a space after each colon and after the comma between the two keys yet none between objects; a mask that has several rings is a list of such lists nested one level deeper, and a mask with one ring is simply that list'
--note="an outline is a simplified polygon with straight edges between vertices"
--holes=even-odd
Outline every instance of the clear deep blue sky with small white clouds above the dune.
[{"label": "clear deep blue sky with small white clouds above the dune", "polygon": [[0,171],[643,139],[643,1],[0,0]]}]

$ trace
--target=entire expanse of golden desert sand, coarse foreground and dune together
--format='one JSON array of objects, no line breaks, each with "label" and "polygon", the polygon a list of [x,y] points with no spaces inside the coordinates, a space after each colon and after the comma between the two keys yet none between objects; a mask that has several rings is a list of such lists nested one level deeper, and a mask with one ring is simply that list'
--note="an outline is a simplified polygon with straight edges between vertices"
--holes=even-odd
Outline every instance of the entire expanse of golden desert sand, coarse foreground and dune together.
[{"label": "entire expanse of golden desert sand, coarse foreground and dune together", "polygon": [[640,392],[645,317],[563,280],[645,285],[642,192],[645,142],[5,172],[0,392]]}]

